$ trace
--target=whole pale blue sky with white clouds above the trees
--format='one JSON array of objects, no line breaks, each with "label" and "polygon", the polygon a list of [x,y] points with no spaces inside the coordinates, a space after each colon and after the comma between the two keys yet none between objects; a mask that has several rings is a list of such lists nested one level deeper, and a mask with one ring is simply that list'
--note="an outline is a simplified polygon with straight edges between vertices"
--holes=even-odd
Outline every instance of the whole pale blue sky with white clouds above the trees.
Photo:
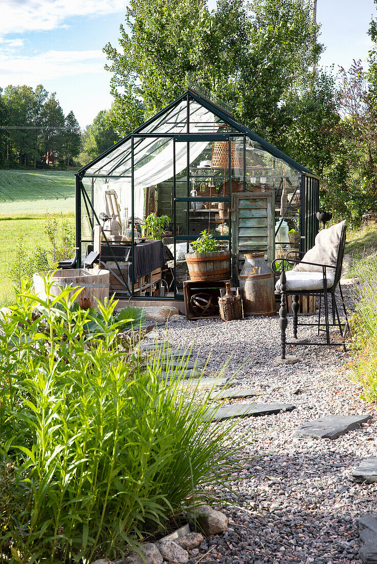
[{"label": "whole pale blue sky with white clouds above the trees", "polygon": [[[179,1],[179,0],[178,0]],[[102,52],[117,45],[126,0],[0,0],[0,87],[42,84],[82,129],[108,109],[110,73]],[[215,0],[210,0],[211,8]],[[367,58],[373,0],[318,0],[321,63],[349,68]]]}]

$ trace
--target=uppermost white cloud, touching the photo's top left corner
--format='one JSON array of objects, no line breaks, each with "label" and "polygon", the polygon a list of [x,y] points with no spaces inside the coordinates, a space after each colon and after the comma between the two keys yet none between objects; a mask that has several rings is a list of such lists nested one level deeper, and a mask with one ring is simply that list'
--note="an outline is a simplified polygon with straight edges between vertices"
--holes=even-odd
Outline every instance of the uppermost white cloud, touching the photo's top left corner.
[{"label": "uppermost white cloud, touching the photo's top left corner", "polygon": [[69,17],[124,13],[124,0],[1,0],[0,36],[56,29]]}]

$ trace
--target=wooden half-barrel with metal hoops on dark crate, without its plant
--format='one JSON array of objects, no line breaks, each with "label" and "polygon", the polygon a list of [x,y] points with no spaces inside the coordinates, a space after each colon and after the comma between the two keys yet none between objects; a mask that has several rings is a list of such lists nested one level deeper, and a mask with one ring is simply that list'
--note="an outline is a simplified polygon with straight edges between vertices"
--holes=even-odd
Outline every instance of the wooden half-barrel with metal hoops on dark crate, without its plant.
[{"label": "wooden half-barrel with metal hoops on dark crate, without its plant", "polygon": [[214,253],[187,253],[185,258],[191,280],[205,282],[230,278],[228,250],[217,250]]}]

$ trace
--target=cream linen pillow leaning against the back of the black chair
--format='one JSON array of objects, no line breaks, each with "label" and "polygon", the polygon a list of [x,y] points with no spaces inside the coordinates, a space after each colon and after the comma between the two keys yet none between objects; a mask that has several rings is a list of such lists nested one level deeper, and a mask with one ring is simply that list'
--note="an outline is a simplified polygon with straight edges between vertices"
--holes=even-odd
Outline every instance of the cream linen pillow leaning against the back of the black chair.
[{"label": "cream linen pillow leaning against the back of the black chair", "polygon": [[[302,262],[316,262],[320,265],[336,266],[338,259],[340,235],[345,221],[336,223],[328,229],[322,229],[316,236],[315,245],[301,258]],[[294,267],[296,272],[321,272],[321,266],[303,265],[301,262]],[[332,270],[332,269],[331,269]]]}]

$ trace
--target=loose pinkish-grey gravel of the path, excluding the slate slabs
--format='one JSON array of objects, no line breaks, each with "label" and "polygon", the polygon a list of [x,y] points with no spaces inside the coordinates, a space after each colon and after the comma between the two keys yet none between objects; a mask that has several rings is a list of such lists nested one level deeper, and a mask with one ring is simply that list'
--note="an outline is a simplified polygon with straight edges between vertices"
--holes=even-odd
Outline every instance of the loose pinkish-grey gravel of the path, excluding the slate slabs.
[{"label": "loose pinkish-grey gravel of the path, excluding the slate slabs", "polygon": [[[349,289],[344,287],[348,296]],[[228,531],[205,541],[190,562],[360,564],[357,519],[377,511],[377,484],[354,484],[349,477],[358,462],[376,455],[377,411],[349,380],[348,353],[341,347],[295,347],[287,352],[300,363],[274,367],[277,318],[185,320],[168,331],[173,346],[194,341],[199,359],[211,353],[209,371],[217,373],[228,362],[225,374],[233,376],[235,387],[260,387],[258,402],[296,406],[290,413],[239,420],[237,429],[254,440],[243,452],[250,462],[238,471],[229,465],[231,491],[217,492],[228,502],[218,507],[228,515]],[[299,328],[299,338],[312,335],[312,328]],[[303,422],[330,413],[374,417],[336,440],[294,436]]]}]

